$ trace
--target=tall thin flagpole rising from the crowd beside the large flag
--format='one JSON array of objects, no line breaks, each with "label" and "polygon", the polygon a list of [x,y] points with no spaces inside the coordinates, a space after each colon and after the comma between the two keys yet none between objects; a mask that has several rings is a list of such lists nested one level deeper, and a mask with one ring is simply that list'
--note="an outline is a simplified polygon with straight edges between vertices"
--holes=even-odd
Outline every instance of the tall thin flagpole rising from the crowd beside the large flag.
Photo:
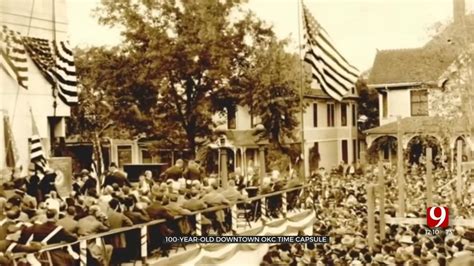
[{"label": "tall thin flagpole rising from the crowd beside the large flag", "polygon": [[300,120],[301,120],[301,161],[302,161],[302,167],[301,167],[301,177],[302,180],[306,182],[306,152],[305,152],[305,139],[304,139],[304,105],[303,105],[303,78],[304,78],[304,65],[303,65],[303,49],[302,49],[302,43],[301,43],[301,8],[302,8],[303,0],[298,0],[298,42],[299,42],[299,52],[300,52],[300,89],[299,89],[299,98],[300,98],[300,104],[299,104],[299,109],[300,109]]}]

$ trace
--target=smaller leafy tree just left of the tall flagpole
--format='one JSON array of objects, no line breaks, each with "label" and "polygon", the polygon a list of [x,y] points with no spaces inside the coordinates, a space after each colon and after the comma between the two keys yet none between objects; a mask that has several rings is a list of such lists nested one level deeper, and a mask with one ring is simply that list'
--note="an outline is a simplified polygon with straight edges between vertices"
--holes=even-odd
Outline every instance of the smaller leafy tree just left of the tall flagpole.
[{"label": "smaller leafy tree just left of the tall flagpole", "polygon": [[310,88],[311,80],[304,72],[301,80],[301,61],[295,54],[285,51],[287,41],[270,38],[255,45],[250,63],[244,69],[240,104],[259,117],[264,126],[260,137],[281,152],[298,156],[299,152],[286,145],[297,140],[299,127],[299,90]]}]

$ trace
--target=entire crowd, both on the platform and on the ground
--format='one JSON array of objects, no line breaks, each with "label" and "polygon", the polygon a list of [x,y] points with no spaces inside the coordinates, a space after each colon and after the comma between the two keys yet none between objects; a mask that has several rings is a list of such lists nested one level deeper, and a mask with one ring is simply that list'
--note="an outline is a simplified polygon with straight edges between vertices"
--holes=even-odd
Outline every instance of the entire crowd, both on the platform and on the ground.
[{"label": "entire crowd, both on the platform and on the ground", "polygon": [[[57,186],[60,173],[52,170],[29,178],[12,178],[0,186],[0,265],[8,265],[17,253],[29,254],[17,260],[18,265],[34,265],[42,260],[52,261],[53,265],[74,265],[78,263],[79,238],[156,220],[162,222],[149,226],[149,250],[167,256],[173,247],[156,236],[196,234],[194,212],[223,206],[203,212],[200,233],[235,233],[230,208],[226,206],[239,202],[239,208],[251,210],[247,219],[257,220],[262,216],[260,201],[248,200],[249,197],[301,185],[291,174],[285,178],[273,171],[270,177],[260,178],[252,170],[247,172],[250,176],[243,176],[237,168],[229,177],[228,187],[222,188],[214,175],[204,176],[196,162],[190,161],[185,167],[183,160],[177,160],[160,176],[145,171],[138,182],[131,183],[112,163],[103,178],[82,170],[73,180],[72,191],[67,193]],[[385,212],[394,217],[398,208],[396,169],[385,167],[384,176]],[[435,206],[447,206],[455,217],[472,219],[471,177],[466,177],[463,200],[457,200],[450,172],[439,168],[433,176]],[[425,177],[422,167],[410,168],[405,175],[408,217],[425,216]],[[377,233],[375,246],[369,249],[366,185],[376,183],[377,179],[375,167],[341,167],[330,173],[320,169],[314,173],[310,190],[306,190],[313,193],[288,193],[288,209],[302,202],[313,206],[317,216],[314,234],[330,236],[331,243],[272,246],[262,264],[447,265],[474,251],[472,227],[455,226],[452,233],[443,231],[433,236],[423,225],[403,224],[387,224],[385,236]],[[377,197],[375,206],[379,203]],[[281,196],[268,197],[265,204],[269,218],[281,215]],[[376,222],[379,213],[376,209]],[[102,240],[88,241],[88,264],[110,265],[140,257],[138,229],[110,234]],[[76,244],[33,255],[45,246],[68,242]]]}]

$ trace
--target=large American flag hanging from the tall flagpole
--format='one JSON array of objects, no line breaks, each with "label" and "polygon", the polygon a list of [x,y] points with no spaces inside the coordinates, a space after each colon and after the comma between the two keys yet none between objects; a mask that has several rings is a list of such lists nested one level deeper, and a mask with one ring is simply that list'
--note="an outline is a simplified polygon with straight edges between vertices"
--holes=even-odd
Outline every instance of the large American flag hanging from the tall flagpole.
[{"label": "large American flag hanging from the tall flagpole", "polygon": [[331,98],[341,101],[354,87],[359,77],[357,68],[336,50],[326,30],[303,5],[305,38],[304,61],[310,64],[311,74],[321,89]]}]

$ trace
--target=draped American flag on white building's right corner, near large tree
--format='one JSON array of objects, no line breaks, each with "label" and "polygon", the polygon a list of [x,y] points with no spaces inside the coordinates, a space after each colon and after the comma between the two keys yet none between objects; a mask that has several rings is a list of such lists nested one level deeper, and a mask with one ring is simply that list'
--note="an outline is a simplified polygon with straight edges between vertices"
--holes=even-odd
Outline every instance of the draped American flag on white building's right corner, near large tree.
[{"label": "draped American flag on white building's right corner, near large tree", "polygon": [[78,101],[74,56],[65,41],[24,38],[26,50],[46,79],[55,86],[59,98],[67,105]]}]

